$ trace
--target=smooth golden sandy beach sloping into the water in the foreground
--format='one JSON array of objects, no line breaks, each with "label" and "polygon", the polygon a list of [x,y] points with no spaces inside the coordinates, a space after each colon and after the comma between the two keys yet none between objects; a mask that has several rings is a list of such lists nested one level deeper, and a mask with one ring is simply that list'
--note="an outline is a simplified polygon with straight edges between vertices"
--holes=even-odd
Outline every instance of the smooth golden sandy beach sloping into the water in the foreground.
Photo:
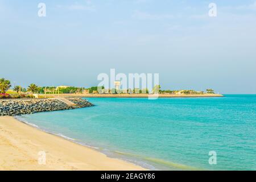
[{"label": "smooth golden sandy beach sloping into the water in the foreground", "polygon": [[[0,117],[0,148],[0,170],[144,170],[13,117]],[[40,151],[46,154],[46,164]]]}]

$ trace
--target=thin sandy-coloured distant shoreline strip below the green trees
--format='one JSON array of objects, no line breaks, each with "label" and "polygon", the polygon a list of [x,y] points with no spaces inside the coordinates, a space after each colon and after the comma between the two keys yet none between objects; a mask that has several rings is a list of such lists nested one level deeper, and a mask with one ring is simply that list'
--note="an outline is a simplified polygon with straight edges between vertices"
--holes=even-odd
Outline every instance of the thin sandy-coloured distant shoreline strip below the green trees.
[{"label": "thin sandy-coloured distant shoreline strip below the green trees", "polygon": [[[39,97],[44,97],[44,94],[39,94]],[[51,97],[127,97],[127,98],[146,98],[155,97],[153,94],[46,94],[47,98]],[[179,98],[179,97],[224,97],[222,94],[159,94],[161,98]]]}]

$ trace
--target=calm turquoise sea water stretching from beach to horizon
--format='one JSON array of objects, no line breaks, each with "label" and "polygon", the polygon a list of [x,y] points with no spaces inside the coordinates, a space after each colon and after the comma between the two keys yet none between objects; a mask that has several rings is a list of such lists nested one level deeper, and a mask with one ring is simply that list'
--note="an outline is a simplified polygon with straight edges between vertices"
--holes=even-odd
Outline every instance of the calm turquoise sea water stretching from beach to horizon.
[{"label": "calm turquoise sea water stretching from beach to horizon", "polygon": [[256,95],[88,100],[20,119],[150,169],[256,169]]}]

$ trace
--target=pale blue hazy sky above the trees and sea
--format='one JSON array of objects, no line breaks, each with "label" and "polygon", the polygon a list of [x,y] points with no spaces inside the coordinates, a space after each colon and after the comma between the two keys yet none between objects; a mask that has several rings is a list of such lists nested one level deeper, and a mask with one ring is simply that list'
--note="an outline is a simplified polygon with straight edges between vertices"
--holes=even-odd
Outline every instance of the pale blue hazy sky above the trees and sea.
[{"label": "pale blue hazy sky above the trees and sea", "polygon": [[256,94],[256,1],[0,0],[0,68],[24,87],[88,88],[114,68],[159,73],[162,89]]}]

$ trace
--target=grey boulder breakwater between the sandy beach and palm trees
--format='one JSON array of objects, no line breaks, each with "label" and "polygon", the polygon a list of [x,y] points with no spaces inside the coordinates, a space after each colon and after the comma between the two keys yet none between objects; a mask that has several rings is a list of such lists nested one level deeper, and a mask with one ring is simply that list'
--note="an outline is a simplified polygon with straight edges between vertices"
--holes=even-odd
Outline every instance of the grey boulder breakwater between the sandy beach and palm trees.
[{"label": "grey boulder breakwater between the sandy beach and palm trees", "polygon": [[[92,103],[81,98],[68,98],[74,102],[77,107],[93,106]],[[26,100],[0,100],[0,116],[33,114],[45,111],[67,110],[74,107],[65,104],[59,100],[51,99],[26,99]]]}]

